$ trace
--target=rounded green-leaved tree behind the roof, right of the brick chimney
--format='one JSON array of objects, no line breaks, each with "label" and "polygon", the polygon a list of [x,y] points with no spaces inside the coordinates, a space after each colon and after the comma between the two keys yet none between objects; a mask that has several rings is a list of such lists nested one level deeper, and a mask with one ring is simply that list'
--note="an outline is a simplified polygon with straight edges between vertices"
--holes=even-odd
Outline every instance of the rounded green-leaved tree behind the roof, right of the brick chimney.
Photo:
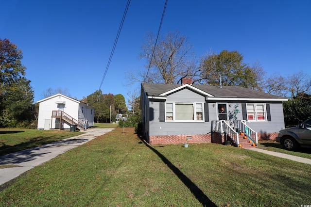
[{"label": "rounded green-leaved tree behind the roof, right of the brick chimney", "polygon": [[220,54],[210,53],[201,62],[200,83],[208,85],[242,86],[259,89],[264,75],[262,67],[243,63],[243,56],[238,51],[223,50]]}]

